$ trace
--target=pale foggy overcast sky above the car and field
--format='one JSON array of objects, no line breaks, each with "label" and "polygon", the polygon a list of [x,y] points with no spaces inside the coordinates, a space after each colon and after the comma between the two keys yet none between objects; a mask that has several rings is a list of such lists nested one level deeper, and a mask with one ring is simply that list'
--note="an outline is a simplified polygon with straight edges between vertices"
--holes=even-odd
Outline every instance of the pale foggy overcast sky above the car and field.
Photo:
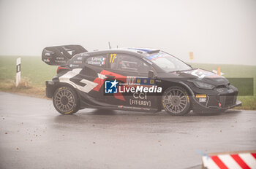
[{"label": "pale foggy overcast sky above the car and field", "polygon": [[256,65],[255,0],[0,0],[0,55],[153,47],[200,63]]}]

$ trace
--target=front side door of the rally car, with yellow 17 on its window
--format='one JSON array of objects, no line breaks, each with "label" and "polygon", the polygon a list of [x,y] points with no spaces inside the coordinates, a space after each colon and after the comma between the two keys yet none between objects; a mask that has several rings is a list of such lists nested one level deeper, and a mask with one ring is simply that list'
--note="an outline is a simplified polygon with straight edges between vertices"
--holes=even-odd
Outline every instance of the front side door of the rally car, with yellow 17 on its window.
[{"label": "front side door of the rally car, with yellow 17 on its window", "polygon": [[105,93],[108,98],[107,103],[144,109],[155,108],[154,100],[157,98],[154,96],[148,95],[148,93],[124,90],[124,88],[136,88],[138,85],[153,86],[155,84],[154,79],[148,78],[148,71],[153,69],[151,65],[141,58],[124,53],[110,53],[107,64],[106,71],[110,76],[106,81],[113,82],[116,80],[118,82],[117,93],[112,93],[112,97]]}]

